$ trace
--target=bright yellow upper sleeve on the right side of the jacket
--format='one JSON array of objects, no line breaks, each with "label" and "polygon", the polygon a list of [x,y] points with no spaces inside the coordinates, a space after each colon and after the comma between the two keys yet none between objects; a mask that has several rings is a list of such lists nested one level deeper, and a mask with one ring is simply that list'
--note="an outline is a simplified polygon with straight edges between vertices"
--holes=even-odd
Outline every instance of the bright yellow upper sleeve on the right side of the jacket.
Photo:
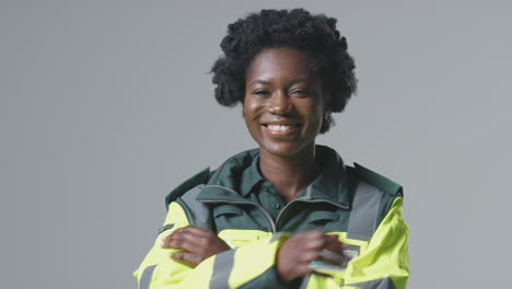
[{"label": "bright yellow upper sleeve on the right side of the jacket", "polygon": [[349,263],[342,288],[406,288],[409,229],[402,217],[402,197],[393,201],[368,247]]}]

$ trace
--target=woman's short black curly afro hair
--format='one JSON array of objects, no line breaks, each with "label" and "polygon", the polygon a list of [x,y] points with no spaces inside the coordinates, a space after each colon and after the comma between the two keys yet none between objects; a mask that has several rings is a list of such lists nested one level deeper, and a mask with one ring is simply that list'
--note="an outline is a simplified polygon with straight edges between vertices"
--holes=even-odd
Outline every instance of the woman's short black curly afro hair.
[{"label": "woman's short black curly afro hair", "polygon": [[[224,53],[211,68],[219,104],[234,106],[244,102],[245,76],[254,57],[265,48],[289,46],[307,55],[310,68],[319,73],[330,92],[329,111],[342,112],[357,91],[354,61],[347,51],[347,41],[336,30],[337,20],[312,15],[304,9],[261,10],[228,25],[221,42]],[[334,124],[324,120],[321,134]]]}]

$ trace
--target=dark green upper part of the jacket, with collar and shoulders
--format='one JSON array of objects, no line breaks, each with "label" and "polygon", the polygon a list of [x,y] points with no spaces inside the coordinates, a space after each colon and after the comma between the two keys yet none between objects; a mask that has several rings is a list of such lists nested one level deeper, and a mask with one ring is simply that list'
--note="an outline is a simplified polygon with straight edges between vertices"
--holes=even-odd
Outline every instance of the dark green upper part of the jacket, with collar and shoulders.
[{"label": "dark green upper part of the jacket, with collar and shoulders", "polygon": [[[318,176],[311,192],[301,192],[286,205],[272,183],[259,172],[259,150],[241,152],[228,159],[213,173],[209,167],[190,177],[166,197],[166,203],[182,196],[186,189],[205,184],[197,199],[212,211],[214,229],[263,230],[295,233],[311,229],[345,231],[358,182],[366,182],[386,192],[379,208],[379,222],[392,201],[402,196],[402,186],[362,165],[346,166],[338,153],[325,146],[315,147]],[[231,204],[230,204],[231,203]],[[185,208],[187,216],[189,211]],[[279,219],[278,219],[279,216]],[[271,220],[269,220],[271,219]]]}]

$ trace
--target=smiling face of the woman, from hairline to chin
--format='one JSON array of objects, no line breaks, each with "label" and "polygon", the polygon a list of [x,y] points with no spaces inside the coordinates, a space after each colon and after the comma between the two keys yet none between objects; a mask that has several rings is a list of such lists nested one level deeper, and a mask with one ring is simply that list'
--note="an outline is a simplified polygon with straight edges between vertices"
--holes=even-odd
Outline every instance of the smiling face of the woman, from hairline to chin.
[{"label": "smiling face of the woman, from hairline to chin", "polygon": [[247,70],[245,124],[260,149],[293,155],[314,147],[326,100],[305,54],[291,47],[267,48]]}]

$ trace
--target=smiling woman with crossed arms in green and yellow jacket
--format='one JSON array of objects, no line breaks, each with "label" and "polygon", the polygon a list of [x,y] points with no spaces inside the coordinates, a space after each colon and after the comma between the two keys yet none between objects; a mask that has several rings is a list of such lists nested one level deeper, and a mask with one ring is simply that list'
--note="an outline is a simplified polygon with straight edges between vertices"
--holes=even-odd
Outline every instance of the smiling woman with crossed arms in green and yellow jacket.
[{"label": "smiling woman with crossed arms in green and yellow jacket", "polygon": [[258,149],[166,197],[140,288],[405,288],[402,187],[315,144],[356,91],[336,20],[261,10],[229,26],[216,99],[238,102]]}]

